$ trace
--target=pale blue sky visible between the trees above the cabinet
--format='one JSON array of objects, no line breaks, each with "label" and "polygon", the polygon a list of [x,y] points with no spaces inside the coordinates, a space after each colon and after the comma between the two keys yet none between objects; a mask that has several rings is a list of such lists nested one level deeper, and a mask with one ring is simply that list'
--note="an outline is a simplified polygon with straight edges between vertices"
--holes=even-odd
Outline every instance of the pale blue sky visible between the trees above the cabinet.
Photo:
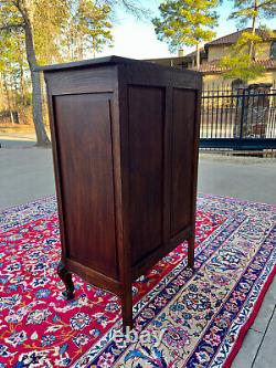
[{"label": "pale blue sky visible between the trees above the cabinet", "polygon": [[[153,17],[159,15],[158,6],[160,0],[144,0],[144,4],[150,8]],[[224,0],[222,6],[217,8],[220,15],[219,27],[215,29],[216,36],[220,38],[225,34],[236,31],[236,24],[232,20],[227,20],[232,11],[233,1]],[[276,21],[265,21],[266,25],[276,29]],[[250,24],[248,24],[250,27]],[[155,28],[149,20],[138,21],[134,15],[120,10],[117,12],[117,21],[113,28],[114,48],[106,48],[97,56],[118,55],[132,59],[156,59],[177,56],[177,53],[170,54],[166,42],[157,40]],[[193,51],[191,48],[183,48],[185,52]]]}]

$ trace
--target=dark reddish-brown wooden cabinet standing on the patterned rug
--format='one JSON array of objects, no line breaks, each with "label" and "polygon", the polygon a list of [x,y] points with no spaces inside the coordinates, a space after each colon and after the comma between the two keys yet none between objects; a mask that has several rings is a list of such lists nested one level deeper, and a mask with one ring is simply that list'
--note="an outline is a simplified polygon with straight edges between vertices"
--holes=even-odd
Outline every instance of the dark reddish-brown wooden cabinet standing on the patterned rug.
[{"label": "dark reddish-brown wooden cabinet standing on the patterned rug", "polygon": [[44,66],[62,261],[121,298],[132,326],[131,283],[188,240],[193,266],[201,76],[110,56]]}]

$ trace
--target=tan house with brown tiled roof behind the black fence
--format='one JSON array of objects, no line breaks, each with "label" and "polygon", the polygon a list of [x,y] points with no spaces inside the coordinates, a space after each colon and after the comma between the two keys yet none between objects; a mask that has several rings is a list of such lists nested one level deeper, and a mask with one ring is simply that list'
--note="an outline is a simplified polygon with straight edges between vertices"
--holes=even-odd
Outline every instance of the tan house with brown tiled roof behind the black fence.
[{"label": "tan house with brown tiled roof behind the black fence", "polygon": [[[200,50],[199,71],[203,74],[205,87],[215,87],[225,82],[223,78],[224,70],[220,66],[220,61],[223,56],[230,53],[230,48],[236,43],[241,33],[245,31],[250,32],[252,29],[247,28],[213,40],[205,43]],[[256,34],[262,36],[263,42],[258,44],[255,50],[254,63],[265,66],[266,71],[262,76],[255,78],[254,81],[248,81],[248,83],[274,83],[276,80],[276,36],[272,36],[266,31],[261,29],[256,30]],[[184,55],[183,50],[179,50],[178,56],[151,59],[148,61],[160,65],[194,70],[195,52]],[[233,83],[234,81],[232,80],[229,82]]]}]

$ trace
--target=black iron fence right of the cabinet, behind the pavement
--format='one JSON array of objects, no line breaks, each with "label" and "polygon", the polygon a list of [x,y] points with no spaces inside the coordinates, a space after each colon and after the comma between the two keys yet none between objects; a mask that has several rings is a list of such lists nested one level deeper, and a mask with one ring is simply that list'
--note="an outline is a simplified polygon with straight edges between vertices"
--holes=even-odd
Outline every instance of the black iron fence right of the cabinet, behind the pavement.
[{"label": "black iron fence right of the cabinet, behind the pavement", "polygon": [[204,90],[200,147],[276,149],[275,85]]}]

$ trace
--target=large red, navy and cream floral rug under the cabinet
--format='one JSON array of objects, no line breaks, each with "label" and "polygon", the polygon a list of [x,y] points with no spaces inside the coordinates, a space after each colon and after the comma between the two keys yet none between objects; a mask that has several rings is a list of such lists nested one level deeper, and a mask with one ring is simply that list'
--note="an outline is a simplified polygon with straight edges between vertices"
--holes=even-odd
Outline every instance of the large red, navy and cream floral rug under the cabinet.
[{"label": "large red, navy and cream floral rug under the cabinet", "polygon": [[229,367],[275,274],[276,207],[200,196],[194,270],[182,243],[119,298],[75,280],[62,298],[54,198],[0,213],[0,368]]}]

